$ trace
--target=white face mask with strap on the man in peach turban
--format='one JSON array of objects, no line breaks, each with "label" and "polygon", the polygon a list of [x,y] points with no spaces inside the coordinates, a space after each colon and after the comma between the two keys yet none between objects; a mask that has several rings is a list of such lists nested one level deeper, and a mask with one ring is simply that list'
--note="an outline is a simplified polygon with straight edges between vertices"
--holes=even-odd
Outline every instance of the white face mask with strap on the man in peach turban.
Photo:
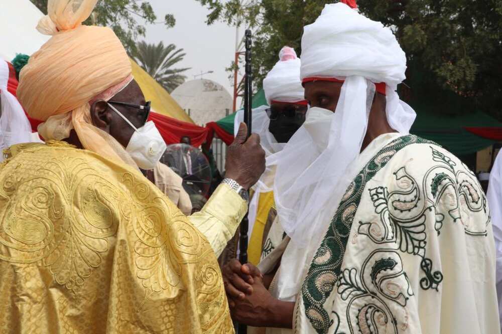
[{"label": "white face mask with strap on the man in peach turban", "polygon": [[142,170],[153,170],[167,147],[166,142],[162,138],[154,122],[146,122],[145,125],[137,129],[129,119],[122,115],[111,104],[108,103],[108,106],[134,129],[134,134],[131,140],[129,140],[126,152],[131,155],[139,168]]}]

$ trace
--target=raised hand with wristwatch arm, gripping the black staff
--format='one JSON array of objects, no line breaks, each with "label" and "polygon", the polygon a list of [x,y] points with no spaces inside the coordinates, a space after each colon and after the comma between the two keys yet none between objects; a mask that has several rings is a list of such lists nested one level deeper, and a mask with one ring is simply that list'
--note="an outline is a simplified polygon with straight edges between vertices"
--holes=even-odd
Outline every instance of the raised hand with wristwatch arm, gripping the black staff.
[{"label": "raised hand with wristwatch arm, gripping the black staff", "polygon": [[247,126],[240,123],[233,143],[228,146],[225,161],[225,178],[235,180],[245,189],[251,188],[265,172],[265,151],[260,136],[253,133],[246,140]]}]

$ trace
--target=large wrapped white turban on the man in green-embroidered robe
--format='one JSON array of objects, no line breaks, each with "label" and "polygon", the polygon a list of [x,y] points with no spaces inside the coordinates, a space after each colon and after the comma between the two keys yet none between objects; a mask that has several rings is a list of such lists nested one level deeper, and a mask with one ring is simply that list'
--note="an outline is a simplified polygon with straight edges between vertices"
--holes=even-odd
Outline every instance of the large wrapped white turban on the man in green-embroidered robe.
[{"label": "large wrapped white turban on the man in green-embroidered robe", "polygon": [[321,16],[304,28],[302,80],[362,76],[395,90],[405,71],[406,55],[392,31],[345,4],[326,5]]}]

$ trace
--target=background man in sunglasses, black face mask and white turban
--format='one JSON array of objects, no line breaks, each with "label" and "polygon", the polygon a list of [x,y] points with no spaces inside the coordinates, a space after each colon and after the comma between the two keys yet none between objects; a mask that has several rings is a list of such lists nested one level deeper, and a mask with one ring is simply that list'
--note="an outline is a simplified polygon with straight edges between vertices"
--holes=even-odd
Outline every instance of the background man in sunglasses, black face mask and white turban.
[{"label": "background man in sunglasses, black face mask and white turban", "polygon": [[[285,46],[279,52],[279,61],[263,80],[268,106],[253,109],[253,132],[260,136],[266,161],[274,160],[274,156],[279,154],[305,121],[307,101],[300,81],[300,66],[301,61],[295,50]],[[235,117],[235,133],[243,117],[241,110]],[[249,262],[255,265],[260,261],[262,250],[263,255],[270,253],[282,241],[284,235],[279,224],[275,224],[270,237],[268,233],[276,217],[273,192],[275,172],[275,166],[266,163],[265,173],[252,188],[248,213],[247,255]],[[234,258],[235,255],[229,254],[229,257]]]}]

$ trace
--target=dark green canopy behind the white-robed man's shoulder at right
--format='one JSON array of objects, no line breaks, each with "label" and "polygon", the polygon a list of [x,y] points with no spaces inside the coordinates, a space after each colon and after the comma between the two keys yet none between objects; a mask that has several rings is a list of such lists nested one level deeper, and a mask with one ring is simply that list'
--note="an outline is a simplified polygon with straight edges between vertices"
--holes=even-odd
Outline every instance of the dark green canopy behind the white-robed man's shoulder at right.
[{"label": "dark green canopy behind the white-robed man's shoulder at right", "polygon": [[477,152],[495,143],[467,131],[466,127],[502,127],[502,123],[482,112],[445,115],[417,112],[411,133],[437,142],[455,155]]}]

